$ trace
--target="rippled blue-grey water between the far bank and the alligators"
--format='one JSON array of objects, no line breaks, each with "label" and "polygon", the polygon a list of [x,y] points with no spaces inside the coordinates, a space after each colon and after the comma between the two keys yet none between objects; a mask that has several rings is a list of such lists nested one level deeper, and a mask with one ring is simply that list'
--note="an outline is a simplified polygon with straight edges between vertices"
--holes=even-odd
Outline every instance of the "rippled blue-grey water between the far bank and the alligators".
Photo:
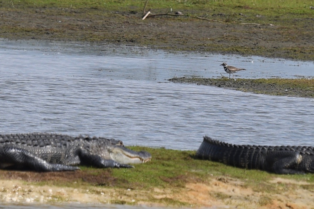
[{"label": "rippled blue-grey water between the far bank and the alligators", "polygon": [[312,77],[313,62],[166,53],[135,47],[0,42],[2,133],[79,133],[126,145],[195,150],[204,135],[234,144],[313,145],[313,99],[174,84],[174,76]]}]

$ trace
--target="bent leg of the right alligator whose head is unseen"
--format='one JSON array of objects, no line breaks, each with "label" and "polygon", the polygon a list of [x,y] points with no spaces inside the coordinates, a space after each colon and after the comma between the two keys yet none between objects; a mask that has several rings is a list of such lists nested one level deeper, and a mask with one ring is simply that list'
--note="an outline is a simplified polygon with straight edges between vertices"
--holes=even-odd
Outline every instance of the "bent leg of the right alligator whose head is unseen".
[{"label": "bent leg of the right alligator whose head is unseen", "polygon": [[266,158],[271,171],[277,174],[304,174],[304,171],[296,170],[301,161],[302,155],[295,151],[271,151]]}]

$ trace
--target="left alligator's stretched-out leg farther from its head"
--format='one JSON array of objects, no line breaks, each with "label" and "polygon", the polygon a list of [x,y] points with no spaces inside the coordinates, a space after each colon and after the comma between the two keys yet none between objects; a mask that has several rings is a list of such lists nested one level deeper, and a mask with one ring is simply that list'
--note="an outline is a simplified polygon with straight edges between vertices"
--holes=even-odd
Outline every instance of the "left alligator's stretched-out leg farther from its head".
[{"label": "left alligator's stretched-out leg farther from its head", "polygon": [[36,171],[65,171],[78,170],[78,167],[51,164],[29,151],[21,148],[0,147],[0,165],[2,167],[14,167],[26,170]]}]

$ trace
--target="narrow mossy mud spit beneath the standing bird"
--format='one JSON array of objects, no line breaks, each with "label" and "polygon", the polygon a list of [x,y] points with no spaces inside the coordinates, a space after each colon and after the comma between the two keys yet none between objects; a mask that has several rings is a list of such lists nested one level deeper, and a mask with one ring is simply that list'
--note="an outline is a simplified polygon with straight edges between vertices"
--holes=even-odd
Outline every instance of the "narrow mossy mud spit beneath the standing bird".
[{"label": "narrow mossy mud spit beneath the standing bird", "polygon": [[193,83],[197,85],[218,86],[239,91],[268,94],[276,96],[314,98],[314,79],[229,79],[223,78],[171,78],[169,81],[179,83]]}]

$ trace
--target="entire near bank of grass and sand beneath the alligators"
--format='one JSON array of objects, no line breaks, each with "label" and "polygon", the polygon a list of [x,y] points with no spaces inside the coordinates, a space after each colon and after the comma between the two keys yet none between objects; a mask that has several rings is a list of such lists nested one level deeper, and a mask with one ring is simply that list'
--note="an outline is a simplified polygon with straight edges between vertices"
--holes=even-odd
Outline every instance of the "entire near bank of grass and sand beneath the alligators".
[{"label": "entire near bank of grass and sand beneath the alligators", "polygon": [[[44,199],[84,203],[86,200],[87,203],[148,206],[314,206],[312,174],[276,175],[240,169],[195,159],[195,151],[137,146],[131,149],[149,151],[153,159],[135,165],[134,169],[81,167],[82,170],[75,172],[48,173],[0,170],[3,188],[0,199],[4,201],[7,196],[14,199],[16,195],[21,196],[20,203],[35,198],[35,202]],[[4,185],[6,180],[14,183]],[[294,204],[300,200],[300,204]]]}]

